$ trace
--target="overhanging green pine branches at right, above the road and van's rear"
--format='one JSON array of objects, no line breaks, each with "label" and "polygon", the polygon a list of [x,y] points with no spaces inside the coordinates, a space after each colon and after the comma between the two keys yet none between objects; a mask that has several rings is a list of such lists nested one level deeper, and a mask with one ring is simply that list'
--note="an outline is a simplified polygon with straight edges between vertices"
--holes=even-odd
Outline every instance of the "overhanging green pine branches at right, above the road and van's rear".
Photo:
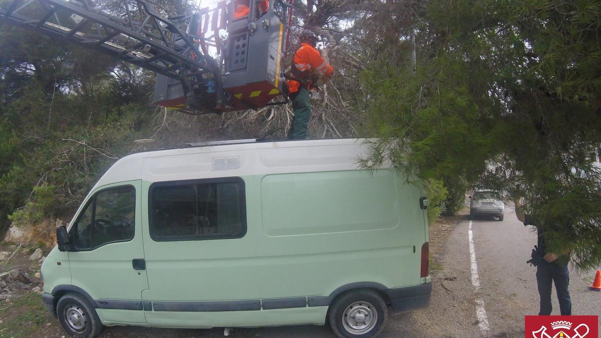
[{"label": "overhanging green pine branches at right, above the road and van's rear", "polygon": [[[434,0],[412,13],[406,38],[374,47],[362,73],[362,105],[380,140],[370,163],[389,159],[442,180],[448,212],[466,186],[520,184],[551,250],[569,248],[579,268],[599,266],[601,170],[591,164],[601,147],[599,2]],[[399,66],[410,31],[415,72]]]}]

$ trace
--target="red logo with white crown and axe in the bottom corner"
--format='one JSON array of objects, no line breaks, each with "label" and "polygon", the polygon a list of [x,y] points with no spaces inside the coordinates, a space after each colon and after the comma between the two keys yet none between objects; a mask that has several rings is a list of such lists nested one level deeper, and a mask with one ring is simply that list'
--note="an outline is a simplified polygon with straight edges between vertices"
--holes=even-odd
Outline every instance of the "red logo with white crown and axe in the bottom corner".
[{"label": "red logo with white crown and axe in the bottom corner", "polygon": [[526,337],[596,338],[597,316],[526,316]]}]

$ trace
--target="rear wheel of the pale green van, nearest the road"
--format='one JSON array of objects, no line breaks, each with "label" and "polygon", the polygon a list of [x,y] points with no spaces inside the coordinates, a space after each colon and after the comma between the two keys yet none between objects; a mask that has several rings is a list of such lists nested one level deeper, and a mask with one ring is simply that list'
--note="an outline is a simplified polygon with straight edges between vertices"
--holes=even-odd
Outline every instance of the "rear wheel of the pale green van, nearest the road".
[{"label": "rear wheel of the pale green van, nearest the road", "polygon": [[377,292],[356,290],[332,304],[329,322],[338,337],[377,337],[388,322],[388,307]]}]

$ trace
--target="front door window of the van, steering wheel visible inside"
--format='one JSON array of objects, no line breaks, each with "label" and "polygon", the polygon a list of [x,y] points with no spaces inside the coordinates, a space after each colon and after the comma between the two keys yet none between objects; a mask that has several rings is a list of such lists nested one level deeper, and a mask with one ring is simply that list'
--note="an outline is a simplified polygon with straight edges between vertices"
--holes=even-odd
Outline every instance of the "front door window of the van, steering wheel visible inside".
[{"label": "front door window of the van, steering wheel visible inside", "polygon": [[93,250],[111,242],[133,238],[136,191],[133,186],[109,188],[94,194],[74,224],[78,250]]}]

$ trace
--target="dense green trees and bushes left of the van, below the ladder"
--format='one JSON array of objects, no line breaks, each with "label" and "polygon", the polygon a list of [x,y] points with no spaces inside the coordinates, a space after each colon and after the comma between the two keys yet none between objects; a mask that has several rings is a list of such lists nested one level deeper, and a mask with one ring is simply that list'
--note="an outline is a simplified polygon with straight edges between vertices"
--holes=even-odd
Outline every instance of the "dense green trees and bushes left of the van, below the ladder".
[{"label": "dense green trees and bushes left of the van, below the ladder", "polygon": [[0,235],[11,220],[70,215],[106,168],[135,150],[133,140],[153,134],[153,80],[112,58],[2,26]]}]

